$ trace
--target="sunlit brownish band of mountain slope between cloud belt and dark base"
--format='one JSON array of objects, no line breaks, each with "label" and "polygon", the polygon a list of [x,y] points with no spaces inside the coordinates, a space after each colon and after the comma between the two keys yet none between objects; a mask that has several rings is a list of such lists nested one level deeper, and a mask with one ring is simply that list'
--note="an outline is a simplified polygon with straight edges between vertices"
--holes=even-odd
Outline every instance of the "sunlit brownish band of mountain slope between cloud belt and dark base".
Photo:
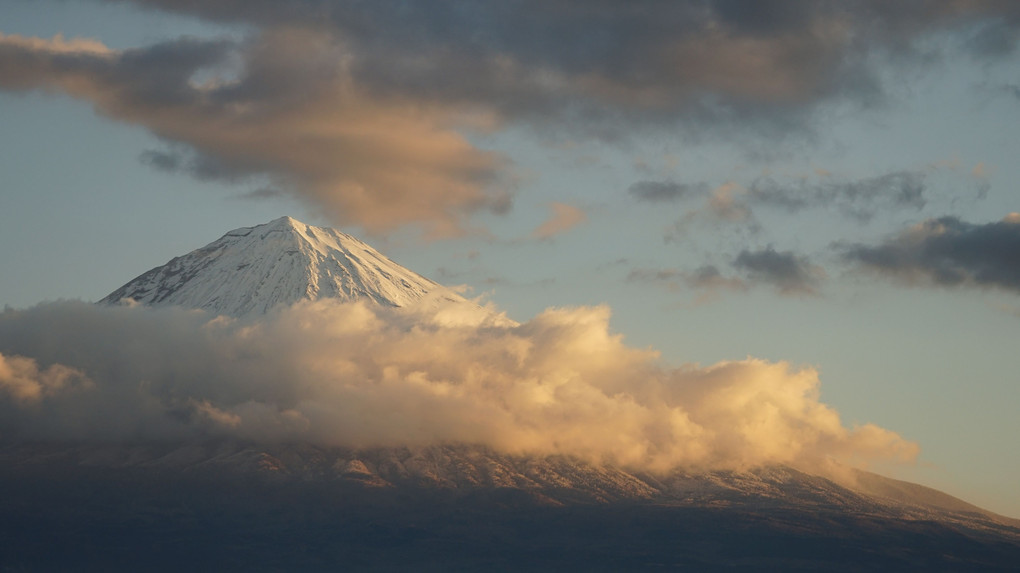
[{"label": "sunlit brownish band of mountain slope between cloud belt and dark base", "polygon": [[517,489],[542,504],[647,502],[838,507],[910,519],[939,519],[1020,533],[1020,520],[982,510],[915,483],[853,470],[845,483],[788,466],[744,470],[674,468],[652,473],[567,456],[529,457],[481,446],[353,449],[300,442],[201,439],[132,445],[6,445],[0,462],[155,470],[190,477],[256,477],[269,482],[332,482],[365,488],[470,492]]}]

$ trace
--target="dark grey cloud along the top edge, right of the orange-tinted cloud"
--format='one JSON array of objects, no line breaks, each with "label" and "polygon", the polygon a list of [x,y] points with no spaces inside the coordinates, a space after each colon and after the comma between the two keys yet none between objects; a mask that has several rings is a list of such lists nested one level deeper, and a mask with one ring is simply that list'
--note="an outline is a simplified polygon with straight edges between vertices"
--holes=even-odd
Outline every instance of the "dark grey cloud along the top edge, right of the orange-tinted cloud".
[{"label": "dark grey cloud along the top edge, right of the orange-tinted cloud", "polygon": [[[882,55],[908,61],[946,30],[998,46],[1020,13],[1015,3],[980,0],[136,3],[326,32],[376,93],[607,136],[634,122],[803,126],[818,102],[880,99],[873,64]],[[985,22],[983,35],[971,32],[975,21]]]}]

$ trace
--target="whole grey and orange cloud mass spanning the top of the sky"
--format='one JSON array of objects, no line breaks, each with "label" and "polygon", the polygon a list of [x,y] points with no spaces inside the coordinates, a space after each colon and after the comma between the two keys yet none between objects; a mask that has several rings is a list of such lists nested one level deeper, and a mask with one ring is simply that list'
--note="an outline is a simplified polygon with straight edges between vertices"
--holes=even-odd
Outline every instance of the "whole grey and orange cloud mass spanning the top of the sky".
[{"label": "whole grey and orange cloud mass spanning the top of the sky", "polygon": [[[0,90],[66,94],[145,127],[166,142],[140,150],[154,168],[254,177],[250,198],[291,194],[339,224],[434,236],[510,208],[510,160],[471,134],[764,135],[773,146],[811,134],[823,110],[880,104],[889,70],[930,65],[932,52],[1004,57],[1020,29],[1018,4],[993,0],[133,3],[235,36],[111,50],[0,34]],[[687,191],[633,193],[665,201]],[[782,190],[764,191],[796,207]]]}]

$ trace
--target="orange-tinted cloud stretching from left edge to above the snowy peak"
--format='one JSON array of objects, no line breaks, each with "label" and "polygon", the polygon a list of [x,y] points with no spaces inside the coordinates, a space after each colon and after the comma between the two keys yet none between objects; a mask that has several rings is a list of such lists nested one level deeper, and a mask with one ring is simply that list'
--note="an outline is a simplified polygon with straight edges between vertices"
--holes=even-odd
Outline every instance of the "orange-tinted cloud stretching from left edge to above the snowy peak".
[{"label": "orange-tinted cloud stretching from left edge to above the snowy peak", "polygon": [[268,178],[370,232],[416,223],[456,235],[471,212],[509,207],[509,162],[460,135],[464,114],[364,89],[327,35],[271,30],[241,43],[185,38],[123,51],[93,44],[0,37],[0,89],[90,101],[170,144],[143,162],[204,179]]}]

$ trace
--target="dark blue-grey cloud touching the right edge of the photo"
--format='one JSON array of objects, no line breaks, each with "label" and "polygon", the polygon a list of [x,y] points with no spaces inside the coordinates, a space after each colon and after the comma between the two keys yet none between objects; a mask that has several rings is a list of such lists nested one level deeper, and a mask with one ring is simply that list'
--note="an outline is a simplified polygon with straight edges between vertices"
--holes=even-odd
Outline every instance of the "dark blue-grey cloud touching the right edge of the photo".
[{"label": "dark blue-grey cloud touching the right edge of the photo", "polygon": [[1020,214],[975,224],[927,219],[882,244],[837,245],[845,261],[909,284],[994,288],[1020,294]]}]

